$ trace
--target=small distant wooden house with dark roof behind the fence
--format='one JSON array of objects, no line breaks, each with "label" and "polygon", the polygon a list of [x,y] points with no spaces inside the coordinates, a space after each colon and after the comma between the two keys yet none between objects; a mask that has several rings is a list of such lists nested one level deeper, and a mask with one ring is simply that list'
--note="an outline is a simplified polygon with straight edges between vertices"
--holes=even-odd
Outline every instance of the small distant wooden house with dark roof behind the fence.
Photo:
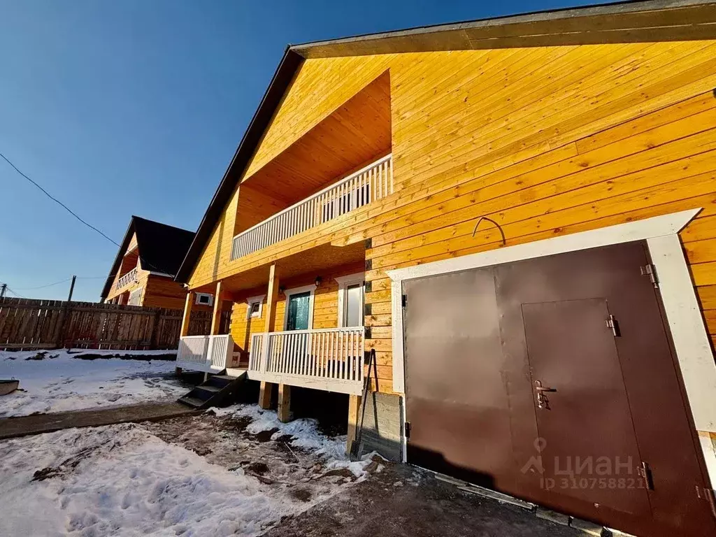
[{"label": "small distant wooden house with dark roof behind the fence", "polygon": [[[193,238],[193,231],[132,216],[102,289],[102,301],[183,309],[187,291],[174,276]],[[198,294],[195,300],[199,309],[213,306],[213,294]]]}]

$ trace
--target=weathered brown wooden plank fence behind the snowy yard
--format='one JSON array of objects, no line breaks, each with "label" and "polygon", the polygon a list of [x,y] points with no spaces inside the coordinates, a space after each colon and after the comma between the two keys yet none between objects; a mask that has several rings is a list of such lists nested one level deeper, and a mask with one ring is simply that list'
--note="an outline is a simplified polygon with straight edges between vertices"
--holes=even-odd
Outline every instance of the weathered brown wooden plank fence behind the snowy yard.
[{"label": "weathered brown wooden plank fence behind the snowy yard", "polygon": [[[94,302],[0,299],[0,349],[176,349],[183,311]],[[228,333],[231,311],[222,311]],[[208,334],[211,311],[193,311],[190,335]]]}]

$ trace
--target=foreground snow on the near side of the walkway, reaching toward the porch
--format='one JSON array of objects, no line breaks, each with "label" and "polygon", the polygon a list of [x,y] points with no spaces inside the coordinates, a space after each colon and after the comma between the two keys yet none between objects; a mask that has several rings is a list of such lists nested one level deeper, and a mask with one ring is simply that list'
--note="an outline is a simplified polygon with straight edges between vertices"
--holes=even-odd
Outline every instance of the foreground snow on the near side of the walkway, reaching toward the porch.
[{"label": "foreground snow on the near side of the walkway, reaching toward the porch", "polygon": [[[275,428],[274,412],[232,410],[259,415],[261,430]],[[324,468],[350,468],[364,479],[372,463],[349,463],[332,447],[339,440],[321,435],[311,420],[296,423],[294,441],[325,449],[315,455],[296,448],[311,457],[306,465],[321,468],[314,479],[323,493],[311,502],[290,485],[211,464],[160,440],[144,425],[69,429],[0,442],[0,535],[258,535],[350,486],[336,475],[324,478]]]}]

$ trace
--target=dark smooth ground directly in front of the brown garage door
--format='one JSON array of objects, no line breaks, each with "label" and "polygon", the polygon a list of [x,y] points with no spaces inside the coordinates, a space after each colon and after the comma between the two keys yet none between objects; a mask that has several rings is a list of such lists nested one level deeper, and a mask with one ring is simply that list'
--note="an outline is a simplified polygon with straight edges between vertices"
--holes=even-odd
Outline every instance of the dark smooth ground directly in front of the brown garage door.
[{"label": "dark smooth ground directly in front of the brown garage door", "polygon": [[390,464],[379,474],[286,518],[265,537],[584,537],[531,511],[464,493],[423,470]]}]

